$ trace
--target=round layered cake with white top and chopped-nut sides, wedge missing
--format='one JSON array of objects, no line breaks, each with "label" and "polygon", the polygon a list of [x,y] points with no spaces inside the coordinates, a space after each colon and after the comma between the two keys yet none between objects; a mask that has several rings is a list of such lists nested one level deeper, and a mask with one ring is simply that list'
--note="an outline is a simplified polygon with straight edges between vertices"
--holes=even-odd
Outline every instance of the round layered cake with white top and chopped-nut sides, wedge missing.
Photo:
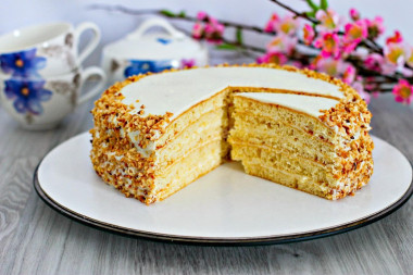
[{"label": "round layered cake with white top and chopped-nut sides, wedge missing", "polygon": [[104,91],[92,115],[95,171],[146,204],[230,160],[329,200],[354,195],[373,174],[366,103],[309,70],[221,65],[132,76]]}]

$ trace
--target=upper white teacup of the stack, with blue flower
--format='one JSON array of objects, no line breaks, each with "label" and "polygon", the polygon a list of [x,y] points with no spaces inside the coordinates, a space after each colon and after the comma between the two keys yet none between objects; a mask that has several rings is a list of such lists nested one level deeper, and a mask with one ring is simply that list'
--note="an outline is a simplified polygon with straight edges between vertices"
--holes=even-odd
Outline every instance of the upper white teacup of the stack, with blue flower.
[{"label": "upper white teacup of the stack, with blue flower", "polygon": [[[87,29],[93,37],[78,52],[79,37]],[[77,27],[60,22],[15,29],[0,36],[0,73],[25,77],[66,74],[80,66],[99,40],[99,27],[90,22]]]}]

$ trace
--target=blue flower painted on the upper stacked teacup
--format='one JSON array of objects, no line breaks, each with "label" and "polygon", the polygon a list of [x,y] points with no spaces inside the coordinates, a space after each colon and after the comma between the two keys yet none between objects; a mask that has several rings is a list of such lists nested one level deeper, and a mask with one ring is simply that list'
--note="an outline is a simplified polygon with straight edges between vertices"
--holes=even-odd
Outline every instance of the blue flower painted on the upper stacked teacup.
[{"label": "blue flower painted on the upper stacked teacup", "polygon": [[13,53],[0,54],[0,67],[4,74],[17,77],[38,76],[37,71],[46,66],[46,59],[36,57],[36,48]]}]

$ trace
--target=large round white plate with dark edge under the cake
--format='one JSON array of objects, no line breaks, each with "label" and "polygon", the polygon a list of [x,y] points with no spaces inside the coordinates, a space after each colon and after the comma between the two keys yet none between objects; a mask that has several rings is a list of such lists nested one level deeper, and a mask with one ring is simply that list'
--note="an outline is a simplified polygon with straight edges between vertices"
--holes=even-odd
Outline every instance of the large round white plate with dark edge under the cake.
[{"label": "large round white plate with dark edge under the cake", "polygon": [[36,190],[78,222],[129,236],[233,245],[304,240],[375,222],[413,191],[409,161],[374,137],[374,175],[354,197],[325,200],[247,175],[233,162],[147,207],[96,175],[89,140],[85,133],[54,148],[38,166]]}]

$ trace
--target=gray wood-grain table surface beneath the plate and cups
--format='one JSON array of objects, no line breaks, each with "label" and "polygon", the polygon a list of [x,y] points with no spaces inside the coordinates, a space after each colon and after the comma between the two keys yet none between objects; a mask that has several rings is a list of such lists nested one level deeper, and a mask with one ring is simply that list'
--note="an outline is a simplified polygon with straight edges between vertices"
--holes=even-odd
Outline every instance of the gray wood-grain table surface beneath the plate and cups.
[{"label": "gray wood-grain table surface beneath the plate and cups", "polygon": [[[92,103],[57,129],[27,132],[0,109],[0,274],[413,274],[413,199],[384,220],[323,239],[261,247],[197,247],[87,227],[40,200],[41,158],[88,130]],[[374,99],[373,134],[413,160],[413,111]]]}]

